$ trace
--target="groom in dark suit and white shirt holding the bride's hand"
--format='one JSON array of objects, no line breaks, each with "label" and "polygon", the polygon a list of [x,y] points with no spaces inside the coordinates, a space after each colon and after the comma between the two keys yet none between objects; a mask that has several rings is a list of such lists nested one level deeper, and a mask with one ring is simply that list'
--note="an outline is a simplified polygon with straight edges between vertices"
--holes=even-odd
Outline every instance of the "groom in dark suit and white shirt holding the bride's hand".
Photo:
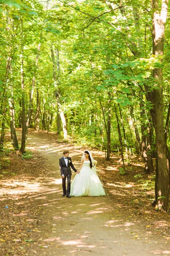
[{"label": "groom in dark suit and white shirt holding the bride's hand", "polygon": [[[74,170],[74,172],[77,172],[75,169],[73,163],[71,162],[71,157],[68,157],[69,151],[65,150],[63,152],[63,157],[59,159],[59,169],[62,176],[62,189],[63,189],[63,195],[67,195],[68,198],[71,198],[70,196],[70,186],[71,186],[71,168]],[[71,168],[70,168],[71,166]],[[79,173],[79,171],[77,172]],[[66,177],[67,177],[67,191],[66,191]]]}]

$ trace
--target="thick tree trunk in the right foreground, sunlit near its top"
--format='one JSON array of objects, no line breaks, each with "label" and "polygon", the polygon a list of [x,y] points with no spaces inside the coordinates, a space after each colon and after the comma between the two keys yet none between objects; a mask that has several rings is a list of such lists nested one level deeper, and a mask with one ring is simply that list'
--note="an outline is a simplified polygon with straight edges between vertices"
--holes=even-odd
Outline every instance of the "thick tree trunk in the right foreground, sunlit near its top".
[{"label": "thick tree trunk in the right foreground, sunlit near its top", "polygon": [[[152,1],[153,9],[153,54],[163,55],[164,49],[164,29],[167,20],[168,0],[162,0],[161,12],[159,13],[159,1]],[[159,57],[160,58],[160,57]],[[169,157],[167,157],[167,142],[164,133],[164,100],[163,100],[163,82],[162,68],[153,70],[155,78],[155,87],[150,95],[150,101],[153,103],[151,116],[156,132],[156,187],[155,198],[156,208],[167,211],[169,202],[170,177],[169,177]]]}]

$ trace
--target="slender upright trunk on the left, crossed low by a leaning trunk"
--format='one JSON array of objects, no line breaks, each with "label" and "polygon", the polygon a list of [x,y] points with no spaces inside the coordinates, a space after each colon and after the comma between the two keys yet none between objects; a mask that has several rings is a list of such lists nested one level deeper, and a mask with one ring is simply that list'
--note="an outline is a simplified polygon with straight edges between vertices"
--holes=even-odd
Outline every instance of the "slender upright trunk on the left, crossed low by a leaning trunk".
[{"label": "slender upright trunk on the left, crossed low by a leaning trunk", "polygon": [[25,145],[26,145],[26,110],[25,110],[25,89],[24,89],[24,70],[23,70],[23,51],[24,51],[24,45],[23,45],[23,20],[21,20],[21,29],[22,29],[22,41],[21,41],[21,54],[20,54],[20,60],[21,60],[21,89],[22,89],[22,139],[21,139],[21,148],[20,151],[23,154],[25,152]]}]

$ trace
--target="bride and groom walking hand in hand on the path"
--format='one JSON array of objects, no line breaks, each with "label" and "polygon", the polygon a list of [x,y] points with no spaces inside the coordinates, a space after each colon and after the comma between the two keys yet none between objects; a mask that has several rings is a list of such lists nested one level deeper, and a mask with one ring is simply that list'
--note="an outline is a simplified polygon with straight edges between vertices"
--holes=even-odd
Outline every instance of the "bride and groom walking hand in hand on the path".
[{"label": "bride and groom walking hand in hand on the path", "polygon": [[[63,152],[63,157],[59,159],[59,168],[62,176],[63,195],[71,198],[71,196],[103,196],[105,191],[96,174],[95,161],[89,150],[82,155],[81,165],[77,171],[69,156],[69,151]],[[71,183],[71,168],[77,175]],[[67,178],[67,190],[65,186]]]}]

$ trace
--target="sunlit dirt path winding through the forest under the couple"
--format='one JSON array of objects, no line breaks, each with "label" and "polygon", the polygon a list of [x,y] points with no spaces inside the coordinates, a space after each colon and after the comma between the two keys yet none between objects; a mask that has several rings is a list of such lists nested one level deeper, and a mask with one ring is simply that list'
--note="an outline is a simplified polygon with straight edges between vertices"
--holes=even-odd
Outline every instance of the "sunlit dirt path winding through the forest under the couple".
[{"label": "sunlit dirt path winding through the forest under the couple", "polygon": [[78,147],[30,132],[27,148],[40,152],[48,166],[38,192],[28,196],[40,209],[35,232],[29,233],[35,242],[27,250],[29,256],[170,255],[168,245],[139,221],[130,220],[123,208],[115,207],[107,192],[105,197],[62,197],[59,158],[64,149],[70,150],[78,168],[74,162],[75,155],[82,155]]}]

